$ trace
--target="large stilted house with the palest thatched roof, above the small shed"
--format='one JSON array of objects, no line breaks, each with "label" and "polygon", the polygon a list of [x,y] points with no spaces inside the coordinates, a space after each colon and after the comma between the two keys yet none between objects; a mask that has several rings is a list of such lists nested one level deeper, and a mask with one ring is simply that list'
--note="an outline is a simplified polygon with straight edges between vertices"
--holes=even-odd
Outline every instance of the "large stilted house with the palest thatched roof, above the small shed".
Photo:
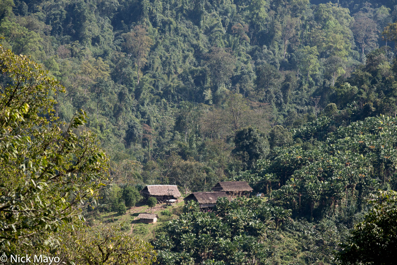
[{"label": "large stilted house with the palest thatched roof, above the small shed", "polygon": [[158,203],[163,203],[170,199],[177,200],[181,193],[176,185],[147,185],[141,190],[141,195],[147,200],[150,196],[157,199]]}]

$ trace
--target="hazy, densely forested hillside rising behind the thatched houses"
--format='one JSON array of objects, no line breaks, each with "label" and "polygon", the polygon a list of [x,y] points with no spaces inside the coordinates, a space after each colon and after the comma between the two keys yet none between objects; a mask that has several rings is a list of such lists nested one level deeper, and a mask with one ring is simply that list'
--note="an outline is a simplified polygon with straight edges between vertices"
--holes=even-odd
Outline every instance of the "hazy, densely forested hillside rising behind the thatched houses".
[{"label": "hazy, densely forested hillside rising behind the thatched houses", "polygon": [[[269,144],[291,144],[284,130],[324,109],[337,124],[395,116],[387,1],[7,0],[1,10],[4,47],[65,86],[56,114],[87,112],[121,182],[210,187]],[[235,148],[247,126],[258,150]]]}]

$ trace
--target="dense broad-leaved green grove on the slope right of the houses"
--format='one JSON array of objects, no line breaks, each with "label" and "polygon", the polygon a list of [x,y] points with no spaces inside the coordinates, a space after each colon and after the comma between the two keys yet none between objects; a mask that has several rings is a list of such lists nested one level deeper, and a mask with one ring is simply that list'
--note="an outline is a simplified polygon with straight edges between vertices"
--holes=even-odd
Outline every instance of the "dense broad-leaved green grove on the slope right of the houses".
[{"label": "dense broad-leaved green grove on the slope right of the houses", "polygon": [[[271,193],[271,202],[292,209],[295,216],[318,220],[333,216],[350,226],[352,215],[362,211],[372,190],[395,186],[391,176],[397,161],[392,147],[396,122],[371,117],[328,133],[326,140],[312,147],[275,148],[268,160],[258,161],[255,171],[240,179],[264,182],[266,192],[267,185],[273,185],[277,190]],[[301,132],[306,129],[313,128],[302,127]],[[352,214],[348,206],[356,207]]]}]

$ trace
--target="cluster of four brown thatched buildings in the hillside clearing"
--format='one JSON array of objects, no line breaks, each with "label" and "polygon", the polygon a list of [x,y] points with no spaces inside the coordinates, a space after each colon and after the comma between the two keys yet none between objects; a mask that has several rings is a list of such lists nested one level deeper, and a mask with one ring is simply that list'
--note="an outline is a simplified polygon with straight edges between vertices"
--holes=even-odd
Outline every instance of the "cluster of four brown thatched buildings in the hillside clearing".
[{"label": "cluster of four brown thatched buildings in the hillside clearing", "polygon": [[[183,200],[185,204],[191,200],[198,203],[200,211],[210,212],[216,205],[216,200],[220,197],[226,197],[229,201],[237,197],[248,198],[252,192],[252,188],[245,181],[225,181],[218,182],[211,189],[212,192],[193,192]],[[158,203],[167,203],[172,205],[177,202],[181,193],[176,185],[148,185],[141,190],[141,195],[147,200],[149,197],[157,199]],[[157,221],[156,214],[141,213],[138,215],[141,222],[155,223]]]}]

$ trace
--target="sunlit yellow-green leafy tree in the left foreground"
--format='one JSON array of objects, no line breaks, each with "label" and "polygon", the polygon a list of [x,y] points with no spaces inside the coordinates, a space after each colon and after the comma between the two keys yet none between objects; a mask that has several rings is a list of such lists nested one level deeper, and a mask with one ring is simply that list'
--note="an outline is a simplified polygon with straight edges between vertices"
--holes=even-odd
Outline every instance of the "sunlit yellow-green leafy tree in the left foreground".
[{"label": "sunlit yellow-green leafy tree in the left foreground", "polygon": [[107,158],[92,132],[74,131],[84,111],[69,125],[57,121],[51,95],[64,88],[39,65],[0,46],[0,69],[0,246],[16,253],[45,248],[58,227],[82,218],[79,207],[106,180]]}]

